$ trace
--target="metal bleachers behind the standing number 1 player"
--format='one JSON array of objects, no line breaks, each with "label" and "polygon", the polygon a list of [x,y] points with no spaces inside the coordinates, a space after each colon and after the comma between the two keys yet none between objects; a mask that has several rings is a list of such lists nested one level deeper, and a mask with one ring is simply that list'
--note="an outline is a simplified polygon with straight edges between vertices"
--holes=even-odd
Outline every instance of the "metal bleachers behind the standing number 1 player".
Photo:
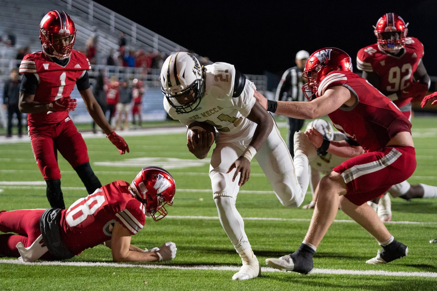
[{"label": "metal bleachers behind the standing number 1 player", "polygon": [[[17,60],[18,48],[29,47],[30,51],[40,51],[39,22],[50,10],[64,10],[76,25],[75,49],[85,51],[86,43],[91,37],[97,38],[97,62],[89,72],[91,81],[97,72],[104,72],[107,77],[115,75],[118,79],[141,79],[146,87],[146,96],[143,98],[143,119],[161,120],[166,118],[160,92],[159,68],[144,72],[142,68],[127,68],[106,65],[106,58],[111,50],[118,50],[119,34],[122,32],[128,41],[128,47],[134,50],[160,53],[165,57],[174,51],[188,51],[173,41],[170,41],[146,27],[123,17],[108,8],[91,0],[2,0],[0,9],[0,36],[13,34],[16,40],[14,46],[0,43],[0,100],[3,99],[3,82],[9,78],[11,68],[19,66]],[[199,60],[203,57],[194,53]],[[253,81],[260,92],[267,88],[267,77],[264,75],[246,75]],[[73,90],[73,98],[78,99],[78,106],[71,117],[76,123],[90,122],[85,104],[79,92]],[[0,127],[5,126],[4,111],[0,110]]]}]

